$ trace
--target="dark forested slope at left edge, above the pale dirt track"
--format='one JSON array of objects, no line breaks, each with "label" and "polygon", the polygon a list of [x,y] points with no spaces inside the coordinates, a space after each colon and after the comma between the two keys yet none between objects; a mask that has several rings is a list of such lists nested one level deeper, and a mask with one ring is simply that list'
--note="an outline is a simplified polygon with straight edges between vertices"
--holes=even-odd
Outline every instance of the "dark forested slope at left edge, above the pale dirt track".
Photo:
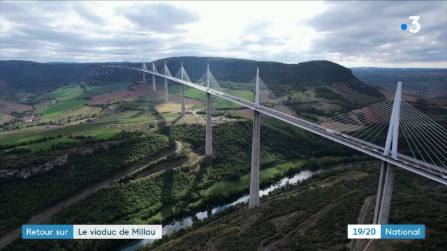
[{"label": "dark forested slope at left edge, above the pale dirt track", "polygon": [[122,132],[107,141],[88,139],[80,144],[58,144],[50,150],[39,151],[38,155],[29,151],[0,151],[0,165],[13,158],[27,160],[8,164],[10,169],[21,169],[41,160],[41,155],[54,156],[64,149],[78,148],[59,167],[29,178],[0,178],[0,236],[24,224],[45,206],[112,176],[120,169],[148,160],[170,146],[173,142],[163,135]]}]

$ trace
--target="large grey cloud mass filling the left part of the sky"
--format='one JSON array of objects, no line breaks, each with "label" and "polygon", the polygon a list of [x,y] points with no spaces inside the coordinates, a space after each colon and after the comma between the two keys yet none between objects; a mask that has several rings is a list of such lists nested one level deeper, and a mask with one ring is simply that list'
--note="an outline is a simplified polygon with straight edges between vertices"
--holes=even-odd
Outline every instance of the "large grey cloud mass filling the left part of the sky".
[{"label": "large grey cloud mass filling the left part of the sky", "polygon": [[[168,52],[186,52],[200,47],[198,43],[185,43],[177,47],[179,43],[175,41],[184,40],[181,33],[163,35],[159,31],[178,31],[177,26],[184,22],[183,18],[187,22],[197,18],[189,11],[179,15],[179,8],[165,4],[111,8],[107,13],[112,18],[110,20],[107,15],[92,10],[97,6],[85,2],[29,2],[24,5],[2,1],[0,4],[0,21],[2,26],[6,24],[0,34],[1,60],[140,61],[142,55],[156,59],[170,56]],[[164,14],[156,14],[165,11]],[[164,15],[174,14],[177,19],[170,18],[165,22]],[[150,21],[154,24],[152,28],[143,23],[144,20],[138,19],[143,16],[151,17]],[[128,18],[132,21],[126,23]],[[135,28],[131,22],[140,22],[138,25],[146,27]],[[186,50],[186,47],[189,48]]]}]

